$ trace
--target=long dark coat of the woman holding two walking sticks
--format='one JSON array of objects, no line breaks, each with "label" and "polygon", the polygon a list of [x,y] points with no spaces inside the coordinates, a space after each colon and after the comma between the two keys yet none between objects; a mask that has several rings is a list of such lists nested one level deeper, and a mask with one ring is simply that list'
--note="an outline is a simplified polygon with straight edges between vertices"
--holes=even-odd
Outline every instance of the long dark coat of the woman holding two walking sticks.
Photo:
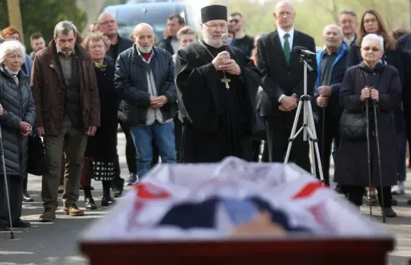
[{"label": "long dark coat of the woman holding two walking sticks", "polygon": [[[401,81],[398,70],[393,66],[378,63],[374,69],[364,63],[352,66],[345,73],[341,84],[341,105],[350,112],[364,112],[365,104],[359,96],[366,86],[375,86],[380,93],[377,103],[378,135],[380,139],[382,186],[396,184],[398,145],[394,110],[401,104]],[[372,105],[370,105],[372,106]],[[370,107],[372,110],[373,107]],[[375,141],[374,112],[370,112],[371,126],[371,179],[379,187],[378,153]],[[350,140],[341,137],[336,162],[334,181],[342,185],[368,186],[368,163],[366,139]]]}]

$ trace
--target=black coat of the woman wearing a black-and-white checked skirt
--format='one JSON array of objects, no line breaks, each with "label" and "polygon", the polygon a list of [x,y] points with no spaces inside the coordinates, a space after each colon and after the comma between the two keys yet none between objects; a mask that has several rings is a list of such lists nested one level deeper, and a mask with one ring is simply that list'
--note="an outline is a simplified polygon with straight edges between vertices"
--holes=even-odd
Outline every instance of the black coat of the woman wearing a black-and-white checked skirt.
[{"label": "black coat of the woman wearing a black-and-white checked skirt", "polygon": [[96,161],[114,162],[117,159],[119,97],[114,87],[114,61],[105,59],[104,64],[105,69],[94,67],[100,95],[101,123],[96,135],[88,139],[86,156]]}]

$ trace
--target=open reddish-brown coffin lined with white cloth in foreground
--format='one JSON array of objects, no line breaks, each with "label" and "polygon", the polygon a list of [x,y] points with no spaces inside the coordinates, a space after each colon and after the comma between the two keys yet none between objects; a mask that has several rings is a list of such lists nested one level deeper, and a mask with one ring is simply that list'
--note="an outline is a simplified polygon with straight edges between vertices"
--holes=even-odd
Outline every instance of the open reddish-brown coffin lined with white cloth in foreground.
[{"label": "open reddish-brown coffin lined with white cloth in foreground", "polygon": [[[219,214],[210,227],[181,228],[190,220],[200,224],[208,219],[194,211],[181,214],[184,221],[174,216],[165,224],[170,209],[187,202],[202,205],[216,196],[218,205],[227,197],[258,197],[287,216],[290,227],[309,231],[232,236],[238,221]],[[208,165],[158,165],[109,214],[85,229],[80,249],[91,265],[382,265],[394,250],[394,236],[295,165],[227,158]]]}]

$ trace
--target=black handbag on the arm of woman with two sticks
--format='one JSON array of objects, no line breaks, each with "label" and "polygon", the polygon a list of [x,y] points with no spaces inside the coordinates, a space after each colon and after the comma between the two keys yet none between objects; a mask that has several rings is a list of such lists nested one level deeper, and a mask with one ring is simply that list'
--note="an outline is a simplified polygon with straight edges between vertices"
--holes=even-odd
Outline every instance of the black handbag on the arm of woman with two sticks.
[{"label": "black handbag on the arm of woman with two sticks", "polygon": [[367,134],[366,114],[348,112],[344,109],[340,118],[340,136],[348,139],[365,139]]}]

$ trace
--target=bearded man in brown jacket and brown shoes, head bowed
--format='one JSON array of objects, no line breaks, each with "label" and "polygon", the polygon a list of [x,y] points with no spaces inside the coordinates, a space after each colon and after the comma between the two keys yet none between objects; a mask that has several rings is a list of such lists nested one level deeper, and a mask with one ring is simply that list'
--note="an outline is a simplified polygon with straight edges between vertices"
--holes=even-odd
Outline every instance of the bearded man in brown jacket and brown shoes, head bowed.
[{"label": "bearded man in brown jacket and brown shoes, head bowed", "polygon": [[40,222],[52,222],[59,206],[61,153],[66,155],[63,211],[81,216],[78,209],[80,174],[87,137],[100,126],[100,101],[94,63],[76,43],[77,28],[68,21],[57,23],[54,39],[36,54],[31,88],[36,101],[36,128],[43,136],[46,172],[41,197]]}]

